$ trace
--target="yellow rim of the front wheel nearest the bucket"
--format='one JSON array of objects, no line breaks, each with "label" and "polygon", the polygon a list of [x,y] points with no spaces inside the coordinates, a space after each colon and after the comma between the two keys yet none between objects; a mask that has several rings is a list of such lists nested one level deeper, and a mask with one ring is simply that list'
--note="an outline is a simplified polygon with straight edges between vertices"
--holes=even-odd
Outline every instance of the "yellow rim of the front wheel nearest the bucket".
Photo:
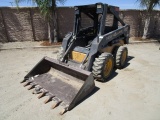
[{"label": "yellow rim of the front wheel nearest the bucket", "polygon": [[104,67],[104,76],[107,77],[111,70],[112,70],[112,66],[113,66],[113,63],[112,63],[112,60],[109,59],[106,64],[105,64],[105,67]]}]

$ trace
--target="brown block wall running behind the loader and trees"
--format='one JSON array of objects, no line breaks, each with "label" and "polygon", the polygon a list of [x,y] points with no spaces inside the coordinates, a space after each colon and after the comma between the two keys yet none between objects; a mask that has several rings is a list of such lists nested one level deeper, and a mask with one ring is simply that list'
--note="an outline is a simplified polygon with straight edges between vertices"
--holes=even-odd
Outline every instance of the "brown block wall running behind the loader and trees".
[{"label": "brown block wall running behind the loader and trees", "polygon": [[[131,26],[131,37],[143,34],[145,11],[121,10],[120,17]],[[62,40],[66,33],[72,31],[74,8],[57,9],[58,38]],[[152,37],[160,36],[160,11],[152,13],[150,31]],[[47,22],[38,8],[0,8],[0,42],[48,40]]]}]

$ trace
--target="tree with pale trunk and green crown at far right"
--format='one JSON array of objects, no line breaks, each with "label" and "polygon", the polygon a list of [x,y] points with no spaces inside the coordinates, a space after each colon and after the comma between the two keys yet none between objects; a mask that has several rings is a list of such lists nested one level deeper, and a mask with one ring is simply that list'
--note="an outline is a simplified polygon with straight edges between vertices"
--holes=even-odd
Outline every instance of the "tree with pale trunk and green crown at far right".
[{"label": "tree with pale trunk and green crown at far right", "polygon": [[144,24],[144,31],[143,31],[143,39],[147,39],[150,37],[150,31],[149,31],[149,26],[150,26],[150,20],[151,20],[151,15],[152,11],[156,6],[160,6],[160,0],[137,0],[140,2],[140,6],[143,8],[146,8],[146,18],[145,18],[145,24]]}]

